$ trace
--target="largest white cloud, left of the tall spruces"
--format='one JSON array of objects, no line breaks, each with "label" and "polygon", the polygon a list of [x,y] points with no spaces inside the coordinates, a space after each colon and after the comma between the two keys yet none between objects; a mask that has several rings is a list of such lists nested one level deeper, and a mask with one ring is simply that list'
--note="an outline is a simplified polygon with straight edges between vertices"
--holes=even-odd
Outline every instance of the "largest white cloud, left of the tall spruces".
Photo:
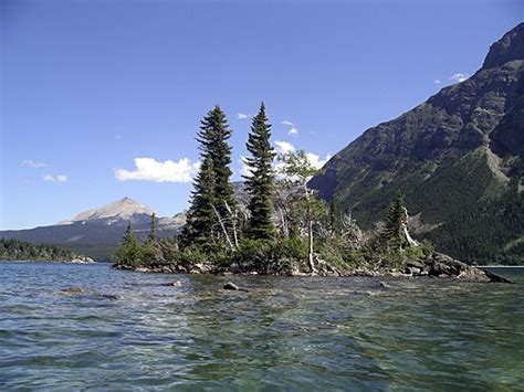
[{"label": "largest white cloud, left of the tall spruces", "polygon": [[154,158],[135,158],[134,161],[136,170],[116,169],[115,178],[119,181],[190,182],[200,167],[200,162],[191,162],[188,158],[164,162]]}]

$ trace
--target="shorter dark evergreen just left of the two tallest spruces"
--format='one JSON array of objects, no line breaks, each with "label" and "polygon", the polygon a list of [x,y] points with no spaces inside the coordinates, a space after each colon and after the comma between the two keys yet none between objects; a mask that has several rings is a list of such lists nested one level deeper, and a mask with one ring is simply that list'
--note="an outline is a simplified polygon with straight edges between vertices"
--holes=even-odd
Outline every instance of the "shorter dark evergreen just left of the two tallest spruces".
[{"label": "shorter dark evergreen just left of the two tallest spruces", "polygon": [[192,243],[203,244],[212,241],[217,214],[213,205],[216,174],[211,157],[205,157],[200,166],[199,173],[195,179],[195,190],[191,192],[191,206],[187,214],[187,222],[184,226],[180,244],[188,246]]}]

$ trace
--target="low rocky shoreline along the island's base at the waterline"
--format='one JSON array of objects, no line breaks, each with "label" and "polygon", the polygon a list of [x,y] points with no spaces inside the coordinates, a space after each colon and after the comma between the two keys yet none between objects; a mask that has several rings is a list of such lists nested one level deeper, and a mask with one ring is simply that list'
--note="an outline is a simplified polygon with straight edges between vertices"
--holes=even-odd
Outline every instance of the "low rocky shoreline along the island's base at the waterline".
[{"label": "low rocky shoreline along the island's base at the waterline", "polygon": [[[196,263],[190,266],[180,263],[156,263],[148,267],[134,267],[129,265],[114,265],[115,269],[128,269],[140,273],[157,274],[209,274],[209,275],[259,275],[255,272],[242,273],[237,268],[227,271],[217,269],[212,265],[206,263]],[[484,271],[458,259],[454,259],[442,253],[434,252],[420,261],[407,262],[404,269],[380,269],[356,267],[353,269],[340,269],[332,264],[316,259],[316,272],[293,271],[284,276],[333,276],[333,277],[430,277],[430,278],[454,278],[462,282],[494,282],[494,283],[512,283],[511,280]],[[276,274],[272,274],[276,275]]]}]

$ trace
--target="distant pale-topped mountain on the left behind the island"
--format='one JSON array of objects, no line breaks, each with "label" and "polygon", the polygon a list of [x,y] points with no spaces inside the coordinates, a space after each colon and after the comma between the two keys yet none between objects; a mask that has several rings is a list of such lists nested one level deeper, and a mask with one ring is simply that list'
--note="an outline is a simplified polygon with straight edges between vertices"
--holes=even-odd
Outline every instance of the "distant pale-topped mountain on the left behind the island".
[{"label": "distant pale-topped mountain on the left behind the island", "polygon": [[[112,256],[130,222],[139,239],[149,232],[153,210],[129,198],[115,201],[99,209],[82,212],[71,221],[29,230],[0,231],[0,237],[60,245],[95,259]],[[180,213],[172,218],[156,218],[158,237],[174,236],[186,221]]]}]

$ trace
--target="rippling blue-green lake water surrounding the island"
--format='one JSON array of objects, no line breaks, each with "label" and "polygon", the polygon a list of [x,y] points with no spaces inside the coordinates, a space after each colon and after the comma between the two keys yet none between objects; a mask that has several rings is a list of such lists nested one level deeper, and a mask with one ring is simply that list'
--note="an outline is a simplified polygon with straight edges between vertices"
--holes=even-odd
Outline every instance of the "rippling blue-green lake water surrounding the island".
[{"label": "rippling blue-green lake water surrounding the island", "polygon": [[524,269],[503,274],[517,284],[0,263],[0,390],[520,389]]}]

